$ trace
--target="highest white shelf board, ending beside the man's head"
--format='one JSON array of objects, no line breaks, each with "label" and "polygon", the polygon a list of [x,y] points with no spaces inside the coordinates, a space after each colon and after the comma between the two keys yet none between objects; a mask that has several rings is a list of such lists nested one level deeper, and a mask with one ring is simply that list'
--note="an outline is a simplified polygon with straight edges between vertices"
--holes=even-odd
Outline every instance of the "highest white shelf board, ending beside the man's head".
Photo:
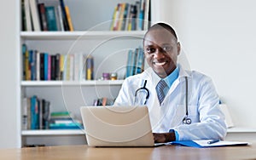
[{"label": "highest white shelf board, ending beside the man's head", "polygon": [[145,31],[21,31],[25,40],[106,39],[110,37],[143,37]]}]

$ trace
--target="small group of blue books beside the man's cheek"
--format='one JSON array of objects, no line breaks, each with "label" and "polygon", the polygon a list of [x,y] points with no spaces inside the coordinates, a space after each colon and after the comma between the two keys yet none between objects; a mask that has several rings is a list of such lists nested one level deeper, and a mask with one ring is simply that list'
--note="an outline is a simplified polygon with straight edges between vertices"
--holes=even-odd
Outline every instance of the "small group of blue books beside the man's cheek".
[{"label": "small group of blue books beside the man's cheek", "polygon": [[126,77],[142,73],[144,71],[144,61],[143,48],[130,49],[127,57]]}]

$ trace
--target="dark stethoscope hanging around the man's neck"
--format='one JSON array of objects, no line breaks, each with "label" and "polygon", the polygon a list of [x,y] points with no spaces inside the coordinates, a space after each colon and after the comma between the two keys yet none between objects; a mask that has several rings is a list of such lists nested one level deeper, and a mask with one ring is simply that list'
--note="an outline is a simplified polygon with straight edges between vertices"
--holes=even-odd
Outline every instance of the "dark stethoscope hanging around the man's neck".
[{"label": "dark stethoscope hanging around the man's neck", "polygon": [[[186,82],[186,96],[185,96],[185,117],[183,117],[183,124],[191,124],[192,120],[189,118],[189,85],[188,85],[188,77],[185,77],[185,82]],[[149,90],[146,88],[147,80],[144,81],[143,87],[139,88],[135,92],[135,103],[137,101],[137,94],[140,92],[144,92],[146,94],[145,101],[143,105],[147,104],[148,98],[149,98]]]}]

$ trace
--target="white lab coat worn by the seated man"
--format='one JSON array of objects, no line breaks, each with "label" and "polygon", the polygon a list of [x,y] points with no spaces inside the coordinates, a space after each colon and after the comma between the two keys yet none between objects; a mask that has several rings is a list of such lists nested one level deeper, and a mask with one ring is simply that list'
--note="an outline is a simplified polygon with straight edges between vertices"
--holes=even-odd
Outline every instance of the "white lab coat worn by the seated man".
[{"label": "white lab coat worn by the seated man", "polygon": [[[212,80],[197,71],[185,71],[182,66],[179,66],[179,70],[179,75],[172,83],[161,106],[155,90],[160,77],[151,68],[142,74],[125,79],[114,106],[133,106],[136,90],[142,88],[144,81],[148,80],[146,88],[149,90],[149,98],[146,106],[154,133],[165,133],[169,129],[175,129],[179,140],[224,139],[227,128]],[[186,111],[184,77],[188,77],[191,124],[182,122]]]}]

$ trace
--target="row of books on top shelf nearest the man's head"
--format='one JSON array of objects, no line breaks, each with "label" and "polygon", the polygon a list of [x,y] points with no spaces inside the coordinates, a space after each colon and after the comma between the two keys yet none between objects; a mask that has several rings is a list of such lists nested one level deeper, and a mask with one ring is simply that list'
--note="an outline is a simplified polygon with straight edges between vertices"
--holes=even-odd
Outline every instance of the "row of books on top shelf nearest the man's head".
[{"label": "row of books on top shelf nearest the man's head", "polygon": [[140,31],[148,29],[150,20],[149,0],[136,3],[118,3],[113,10],[111,31]]}]

